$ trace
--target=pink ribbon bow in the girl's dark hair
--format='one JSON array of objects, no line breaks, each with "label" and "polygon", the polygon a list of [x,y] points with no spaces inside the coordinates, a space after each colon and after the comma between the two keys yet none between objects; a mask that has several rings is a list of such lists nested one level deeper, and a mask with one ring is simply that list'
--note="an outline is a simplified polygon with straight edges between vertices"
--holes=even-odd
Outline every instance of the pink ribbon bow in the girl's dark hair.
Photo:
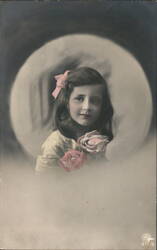
[{"label": "pink ribbon bow in the girl's dark hair", "polygon": [[64,74],[56,75],[54,77],[57,80],[56,88],[52,92],[52,96],[54,96],[54,98],[57,98],[57,96],[58,96],[59,92],[61,91],[61,89],[65,88],[65,81],[67,79],[68,72],[70,72],[70,71],[67,70],[67,71],[64,72]]}]

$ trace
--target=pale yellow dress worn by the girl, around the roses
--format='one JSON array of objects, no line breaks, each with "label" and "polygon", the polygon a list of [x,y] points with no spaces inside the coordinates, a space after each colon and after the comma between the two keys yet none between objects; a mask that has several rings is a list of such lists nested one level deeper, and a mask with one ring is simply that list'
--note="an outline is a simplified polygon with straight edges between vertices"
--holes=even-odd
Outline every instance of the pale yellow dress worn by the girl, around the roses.
[{"label": "pale yellow dress worn by the girl, around the roses", "polygon": [[[41,147],[41,154],[37,157],[36,171],[45,172],[59,166],[59,160],[69,150],[83,151],[74,139],[65,137],[59,130],[53,131]],[[86,154],[86,165],[106,160],[105,151]]]}]

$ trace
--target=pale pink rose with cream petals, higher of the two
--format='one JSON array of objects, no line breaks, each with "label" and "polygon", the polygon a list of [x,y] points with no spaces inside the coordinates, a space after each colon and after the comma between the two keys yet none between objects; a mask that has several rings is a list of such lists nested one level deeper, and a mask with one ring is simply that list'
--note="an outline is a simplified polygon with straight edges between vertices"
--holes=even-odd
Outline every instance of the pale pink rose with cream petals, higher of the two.
[{"label": "pale pink rose with cream petals, higher of the two", "polygon": [[100,135],[98,131],[94,130],[78,138],[77,143],[89,153],[99,153],[106,150],[109,139],[107,136]]}]

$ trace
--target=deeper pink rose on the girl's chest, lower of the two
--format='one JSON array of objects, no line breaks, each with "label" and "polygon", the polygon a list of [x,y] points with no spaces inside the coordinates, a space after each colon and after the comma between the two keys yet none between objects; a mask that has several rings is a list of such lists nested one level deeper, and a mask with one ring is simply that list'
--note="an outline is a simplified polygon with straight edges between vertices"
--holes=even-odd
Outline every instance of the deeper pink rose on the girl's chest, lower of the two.
[{"label": "deeper pink rose on the girl's chest, lower of the two", "polygon": [[69,150],[59,160],[59,166],[70,172],[71,170],[82,167],[86,159],[87,157],[84,152],[80,152],[78,150]]}]

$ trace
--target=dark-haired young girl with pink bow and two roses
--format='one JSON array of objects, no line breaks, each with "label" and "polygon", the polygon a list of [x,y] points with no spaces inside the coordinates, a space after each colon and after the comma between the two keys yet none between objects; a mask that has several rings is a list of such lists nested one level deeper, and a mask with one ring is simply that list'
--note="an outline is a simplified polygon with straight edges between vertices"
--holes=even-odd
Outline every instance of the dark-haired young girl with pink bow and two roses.
[{"label": "dark-haired young girl with pink bow and two roses", "polygon": [[53,132],[42,145],[36,170],[78,169],[104,158],[112,140],[113,108],[104,78],[81,67],[55,76]]}]

